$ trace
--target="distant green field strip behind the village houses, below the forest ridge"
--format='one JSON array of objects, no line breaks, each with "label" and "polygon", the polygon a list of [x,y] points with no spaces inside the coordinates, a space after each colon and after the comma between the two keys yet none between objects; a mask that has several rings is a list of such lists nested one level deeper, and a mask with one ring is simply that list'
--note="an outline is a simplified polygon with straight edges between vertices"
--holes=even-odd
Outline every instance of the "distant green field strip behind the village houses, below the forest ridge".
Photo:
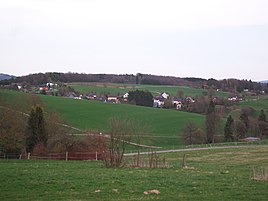
[{"label": "distant green field strip behind the village houses, below the forest ridge", "polygon": [[[176,96],[178,91],[183,91],[184,96],[199,96],[202,95],[203,92],[206,92],[204,89],[197,89],[193,87],[186,86],[166,86],[166,85],[134,85],[134,84],[102,84],[102,83],[72,83],[70,84],[75,90],[80,91],[82,93],[95,92],[97,94],[123,94],[132,90],[148,90],[154,96],[159,95],[160,93],[166,92],[171,96]],[[217,92],[219,96],[228,96],[227,93]]]}]

